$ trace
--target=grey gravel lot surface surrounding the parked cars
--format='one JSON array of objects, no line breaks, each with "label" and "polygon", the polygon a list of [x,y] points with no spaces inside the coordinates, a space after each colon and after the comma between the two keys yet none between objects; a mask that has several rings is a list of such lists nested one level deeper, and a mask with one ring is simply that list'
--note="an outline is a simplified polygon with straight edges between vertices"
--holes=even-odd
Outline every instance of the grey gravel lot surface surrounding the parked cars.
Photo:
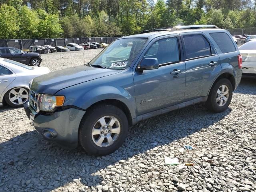
[{"label": "grey gravel lot surface surrounding the parked cars", "polygon": [[[86,62],[99,51],[84,51]],[[83,63],[82,52],[42,58],[52,71]],[[81,147],[66,150],[43,140],[23,108],[3,107],[0,191],[256,191],[255,109],[256,80],[243,79],[225,112],[213,114],[196,104],[150,118],[130,128],[119,150],[94,157]],[[165,157],[180,164],[165,165]]]}]

